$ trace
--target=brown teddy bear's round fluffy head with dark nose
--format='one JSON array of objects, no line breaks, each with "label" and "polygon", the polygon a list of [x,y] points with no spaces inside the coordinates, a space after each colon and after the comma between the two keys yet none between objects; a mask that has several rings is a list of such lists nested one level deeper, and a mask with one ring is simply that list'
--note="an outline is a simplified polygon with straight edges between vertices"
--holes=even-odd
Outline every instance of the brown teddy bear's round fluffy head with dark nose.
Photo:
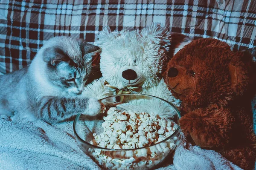
[{"label": "brown teddy bear's round fluffy head with dark nose", "polygon": [[193,40],[169,61],[166,83],[191,106],[225,105],[247,86],[247,69],[240,55],[220,40]]}]

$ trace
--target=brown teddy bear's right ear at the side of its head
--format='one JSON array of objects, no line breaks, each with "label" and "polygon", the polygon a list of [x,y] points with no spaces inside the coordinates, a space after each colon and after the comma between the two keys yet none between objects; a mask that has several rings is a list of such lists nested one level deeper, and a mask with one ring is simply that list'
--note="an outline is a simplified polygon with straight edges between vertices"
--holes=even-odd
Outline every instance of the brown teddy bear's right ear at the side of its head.
[{"label": "brown teddy bear's right ear at the side of its head", "polygon": [[236,95],[242,95],[248,84],[247,69],[244,68],[244,64],[241,61],[231,62],[228,69],[230,72],[231,88]]}]

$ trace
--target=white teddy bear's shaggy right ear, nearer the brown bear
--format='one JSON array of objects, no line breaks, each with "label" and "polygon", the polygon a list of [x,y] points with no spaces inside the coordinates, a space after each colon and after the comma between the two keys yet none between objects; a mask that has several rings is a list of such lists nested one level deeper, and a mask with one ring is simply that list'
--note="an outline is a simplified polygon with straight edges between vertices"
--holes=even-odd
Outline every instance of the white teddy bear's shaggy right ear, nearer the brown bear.
[{"label": "white teddy bear's shaggy right ear, nearer the brown bear", "polygon": [[171,33],[162,23],[153,23],[151,26],[146,26],[141,30],[140,35],[145,40],[153,41],[162,46],[168,46],[171,41]]}]

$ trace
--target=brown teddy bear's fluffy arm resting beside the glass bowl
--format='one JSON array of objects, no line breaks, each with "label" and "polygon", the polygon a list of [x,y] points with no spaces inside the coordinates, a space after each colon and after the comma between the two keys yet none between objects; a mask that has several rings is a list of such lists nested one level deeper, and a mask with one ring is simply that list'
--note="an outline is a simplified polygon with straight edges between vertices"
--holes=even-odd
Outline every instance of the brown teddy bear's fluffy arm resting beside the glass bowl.
[{"label": "brown teddy bear's fluffy arm resting beside the glass bowl", "polygon": [[196,109],[180,119],[183,133],[202,148],[224,147],[230,140],[234,117],[230,109]]}]

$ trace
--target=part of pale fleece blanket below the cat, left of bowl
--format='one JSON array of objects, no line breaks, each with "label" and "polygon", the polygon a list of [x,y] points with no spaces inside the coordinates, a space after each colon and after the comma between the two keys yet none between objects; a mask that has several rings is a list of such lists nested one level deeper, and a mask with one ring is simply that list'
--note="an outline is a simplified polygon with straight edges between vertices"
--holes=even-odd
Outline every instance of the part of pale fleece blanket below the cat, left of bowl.
[{"label": "part of pale fleece blanket below the cat, left of bowl", "polygon": [[61,129],[40,120],[14,123],[0,119],[0,169],[100,170],[80,150],[71,134],[72,125],[64,122],[58,125]]}]

